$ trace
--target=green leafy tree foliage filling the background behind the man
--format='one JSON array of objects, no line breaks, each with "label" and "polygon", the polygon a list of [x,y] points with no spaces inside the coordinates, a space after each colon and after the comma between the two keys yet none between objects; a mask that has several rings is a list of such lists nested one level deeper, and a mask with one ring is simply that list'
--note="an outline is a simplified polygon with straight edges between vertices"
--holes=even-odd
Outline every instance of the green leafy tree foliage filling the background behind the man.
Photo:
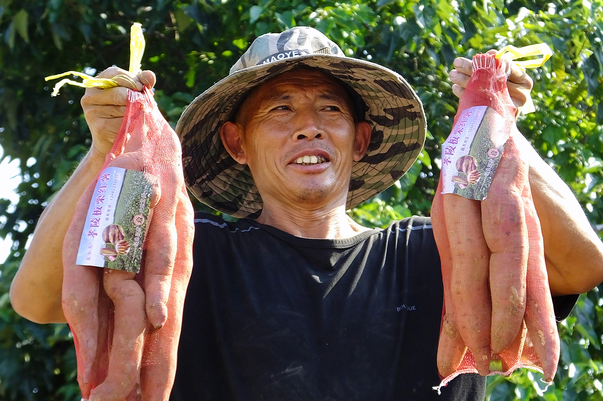
[{"label": "green leafy tree foliage filling the background behind the man", "polygon": [[[13,241],[0,270],[0,399],[79,400],[68,327],[39,325],[11,309],[8,288],[43,207],[90,144],[79,98],[51,98],[46,75],[127,68],[132,22],[145,28],[143,68],[172,125],[183,108],[225,77],[260,34],[310,25],[347,55],[402,74],[428,116],[420,162],[397,185],[350,214],[369,226],[428,215],[440,144],[457,99],[447,73],[458,55],[545,42],[554,56],[531,71],[537,111],[518,125],[573,189],[593,225],[603,224],[602,0],[0,0],[0,144],[21,160],[19,201],[0,199],[0,236]],[[197,204],[198,207],[201,207]],[[603,400],[603,297],[581,295],[560,324],[554,385],[517,371],[490,377],[490,400]]]}]

